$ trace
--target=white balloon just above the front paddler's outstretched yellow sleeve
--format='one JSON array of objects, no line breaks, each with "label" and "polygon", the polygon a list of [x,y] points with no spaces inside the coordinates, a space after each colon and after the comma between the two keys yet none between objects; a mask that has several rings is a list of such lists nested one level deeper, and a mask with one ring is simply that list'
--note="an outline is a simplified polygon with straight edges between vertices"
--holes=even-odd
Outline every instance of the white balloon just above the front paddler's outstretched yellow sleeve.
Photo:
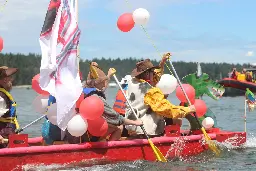
[{"label": "white balloon just above the front paddler's outstretched yellow sleeve", "polygon": [[159,88],[164,95],[169,95],[177,88],[177,79],[170,75],[164,74],[161,76],[160,81],[157,83],[156,87]]}]

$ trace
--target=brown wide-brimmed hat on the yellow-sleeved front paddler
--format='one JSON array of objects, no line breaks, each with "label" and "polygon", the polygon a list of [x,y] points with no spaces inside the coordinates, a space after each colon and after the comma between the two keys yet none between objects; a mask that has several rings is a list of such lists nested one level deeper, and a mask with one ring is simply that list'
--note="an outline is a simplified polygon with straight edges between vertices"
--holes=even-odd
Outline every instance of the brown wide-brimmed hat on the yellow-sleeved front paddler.
[{"label": "brown wide-brimmed hat on the yellow-sleeved front paddler", "polygon": [[158,68],[160,68],[160,66],[154,66],[150,59],[145,59],[136,63],[136,68],[132,71],[131,76],[136,77],[145,71]]}]

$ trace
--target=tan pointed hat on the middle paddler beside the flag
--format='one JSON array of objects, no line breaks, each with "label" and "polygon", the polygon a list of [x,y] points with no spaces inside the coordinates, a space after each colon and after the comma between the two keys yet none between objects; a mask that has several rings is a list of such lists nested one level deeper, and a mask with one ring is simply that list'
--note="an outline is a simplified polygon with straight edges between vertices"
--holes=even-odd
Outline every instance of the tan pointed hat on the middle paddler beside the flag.
[{"label": "tan pointed hat on the middle paddler beside the flag", "polygon": [[86,87],[97,88],[102,90],[104,88],[102,82],[108,78],[98,65],[90,65],[90,71],[86,80]]}]

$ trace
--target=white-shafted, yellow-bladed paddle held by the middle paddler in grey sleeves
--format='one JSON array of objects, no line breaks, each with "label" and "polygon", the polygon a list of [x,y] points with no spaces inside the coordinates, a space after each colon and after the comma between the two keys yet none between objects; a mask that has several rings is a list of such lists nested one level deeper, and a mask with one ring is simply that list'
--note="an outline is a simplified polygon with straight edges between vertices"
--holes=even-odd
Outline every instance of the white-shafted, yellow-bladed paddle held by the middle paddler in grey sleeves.
[{"label": "white-shafted, yellow-bladed paddle held by the middle paddler in grey sleeves", "polygon": [[[136,115],[136,112],[134,111],[134,109],[133,109],[133,107],[132,107],[130,101],[128,100],[128,97],[126,96],[126,94],[125,94],[125,92],[124,92],[124,90],[122,89],[122,87],[121,87],[121,85],[120,85],[120,83],[119,83],[119,81],[118,81],[116,75],[114,74],[113,77],[114,77],[116,83],[118,84],[119,89],[122,91],[122,93],[123,93],[123,95],[124,95],[124,97],[125,97],[125,99],[126,99],[128,105],[129,105],[129,107],[131,108],[131,110],[132,110],[134,116],[136,117],[136,119],[138,119],[138,117],[137,117],[137,115]],[[148,134],[147,134],[147,132],[146,132],[144,126],[142,125],[142,126],[140,126],[140,127],[141,127],[142,131],[144,132],[146,138],[148,139],[148,143],[150,144],[150,146],[151,146],[151,148],[152,148],[152,150],[153,150],[153,152],[154,152],[154,154],[155,154],[155,156],[156,156],[156,159],[157,159],[158,161],[161,161],[161,162],[167,162],[167,160],[166,160],[166,158],[164,157],[164,155],[160,152],[160,150],[154,145],[154,143],[153,143],[153,142],[151,141],[151,139],[149,138],[149,136],[148,136]]]}]

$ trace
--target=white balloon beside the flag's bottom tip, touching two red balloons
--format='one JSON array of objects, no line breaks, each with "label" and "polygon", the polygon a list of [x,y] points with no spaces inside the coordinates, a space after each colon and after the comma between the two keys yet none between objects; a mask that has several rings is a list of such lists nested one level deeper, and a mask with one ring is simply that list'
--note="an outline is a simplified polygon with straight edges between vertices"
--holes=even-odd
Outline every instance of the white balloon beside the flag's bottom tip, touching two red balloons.
[{"label": "white balloon beside the flag's bottom tip, touching two red balloons", "polygon": [[87,131],[87,128],[87,121],[77,114],[68,122],[67,130],[72,136],[80,137]]}]

